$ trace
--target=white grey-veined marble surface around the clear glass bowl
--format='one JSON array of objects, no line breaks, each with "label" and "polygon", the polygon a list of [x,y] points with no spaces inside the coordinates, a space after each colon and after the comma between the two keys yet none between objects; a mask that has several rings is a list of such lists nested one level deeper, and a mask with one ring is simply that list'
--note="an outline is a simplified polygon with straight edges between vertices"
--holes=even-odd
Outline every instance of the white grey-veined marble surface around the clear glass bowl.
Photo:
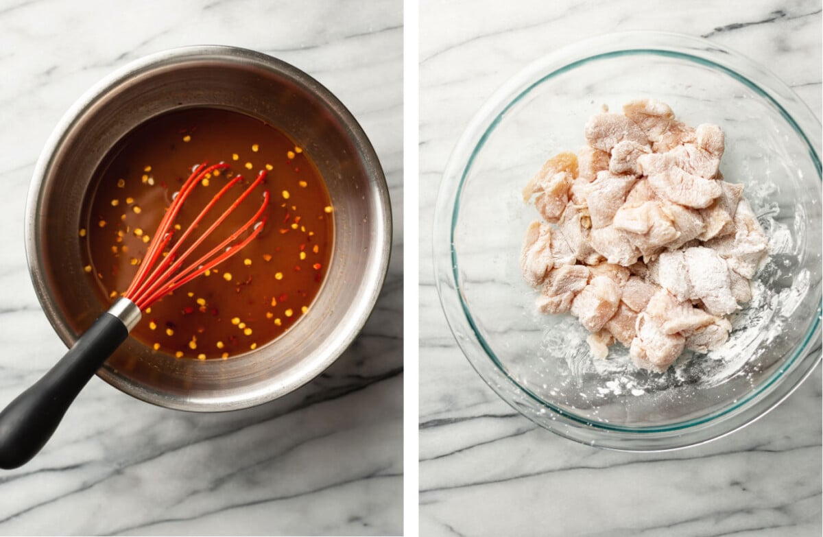
[{"label": "white grey-veined marble surface around the clear glass bowl", "polygon": [[581,446],[515,413],[472,370],[444,322],[430,248],[449,152],[533,59],[615,30],[704,35],[768,65],[821,117],[821,2],[429,0],[420,13],[421,535],[821,535],[821,367],[705,446]]}]

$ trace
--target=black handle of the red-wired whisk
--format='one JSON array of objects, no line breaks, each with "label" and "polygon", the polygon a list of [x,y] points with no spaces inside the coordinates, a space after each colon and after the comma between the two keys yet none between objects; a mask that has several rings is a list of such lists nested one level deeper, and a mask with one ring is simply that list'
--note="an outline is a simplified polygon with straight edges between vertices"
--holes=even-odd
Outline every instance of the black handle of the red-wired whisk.
[{"label": "black handle of the red-wired whisk", "polygon": [[[25,465],[40,451],[83,386],[128,338],[133,324],[113,310],[100,315],[40,381],[0,412],[0,468]],[[137,320],[139,315],[137,310]]]}]

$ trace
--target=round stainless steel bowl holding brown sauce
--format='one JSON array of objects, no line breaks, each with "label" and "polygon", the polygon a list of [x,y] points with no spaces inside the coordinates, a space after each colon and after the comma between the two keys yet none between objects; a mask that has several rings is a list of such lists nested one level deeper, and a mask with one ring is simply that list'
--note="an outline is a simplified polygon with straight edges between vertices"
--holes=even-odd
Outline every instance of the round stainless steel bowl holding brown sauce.
[{"label": "round stainless steel bowl holding brown sauce", "polygon": [[305,72],[222,46],[171,49],[114,72],[72,106],[40,156],[26,208],[26,254],[40,304],[72,345],[107,306],[82,273],[77,240],[95,169],[138,124],[195,106],[262,119],[305,147],[335,207],[326,281],[294,327],[253,352],[179,360],[130,338],[98,376],[172,409],[242,409],[295,390],[334,362],[365,324],[388,268],[388,188],[374,148],[342,103]]}]

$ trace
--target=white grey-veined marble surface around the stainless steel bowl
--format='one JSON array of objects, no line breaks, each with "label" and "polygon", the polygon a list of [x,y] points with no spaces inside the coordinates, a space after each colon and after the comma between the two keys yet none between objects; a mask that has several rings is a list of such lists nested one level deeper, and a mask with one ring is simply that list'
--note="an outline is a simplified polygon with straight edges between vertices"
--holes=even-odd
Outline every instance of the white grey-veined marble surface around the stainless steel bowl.
[{"label": "white grey-veined marble surface around the stainless steel bowl", "polygon": [[29,465],[0,473],[2,535],[402,531],[402,2],[0,2],[0,404],[64,352],[32,290],[35,160],[83,91],[133,58],[233,44],[295,64],[374,143],[394,212],[375,315],[323,376],[255,409],[160,409],[93,379]]}]

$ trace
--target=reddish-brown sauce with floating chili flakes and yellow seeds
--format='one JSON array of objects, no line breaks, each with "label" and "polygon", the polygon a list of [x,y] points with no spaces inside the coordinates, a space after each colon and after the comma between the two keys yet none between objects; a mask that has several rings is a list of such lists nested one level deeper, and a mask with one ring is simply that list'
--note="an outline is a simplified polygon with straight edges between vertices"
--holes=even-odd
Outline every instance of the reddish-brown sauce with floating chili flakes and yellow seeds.
[{"label": "reddish-brown sauce with floating chili flakes and yellow seeds", "polygon": [[[260,170],[267,172],[264,187],[271,196],[265,228],[239,254],[143,311],[132,331],[157,352],[201,360],[249,352],[305,315],[323,283],[333,236],[326,186],[309,156],[285,134],[229,110],[162,114],[114,147],[84,203],[84,269],[102,297],[114,301],[126,291],[172,195],[203,161],[225,161],[230,169],[194,189],[177,219],[181,230],[230,177],[243,175],[244,181],[232,187],[215,215]],[[221,225],[226,231],[202,249],[239,229],[261,202],[258,187]]]}]

